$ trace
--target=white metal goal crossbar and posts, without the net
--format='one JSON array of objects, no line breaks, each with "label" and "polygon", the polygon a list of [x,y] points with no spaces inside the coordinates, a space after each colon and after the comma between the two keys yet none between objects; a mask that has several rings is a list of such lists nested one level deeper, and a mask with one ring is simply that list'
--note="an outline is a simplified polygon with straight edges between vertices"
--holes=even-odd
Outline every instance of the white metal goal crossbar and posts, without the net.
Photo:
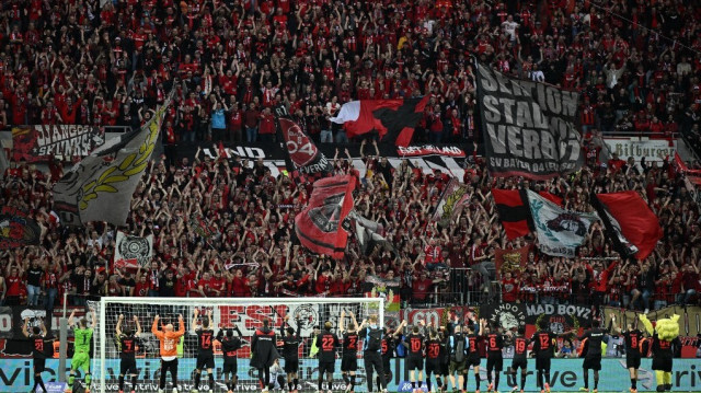
[{"label": "white metal goal crossbar and posts, without the net", "polygon": [[[110,303],[122,304],[153,304],[154,302],[166,305],[237,305],[237,304],[251,304],[251,305],[265,305],[265,304],[354,304],[354,303],[377,303],[378,325],[384,327],[384,298],[320,298],[320,297],[307,297],[307,298],[174,298],[174,297],[103,297],[100,299],[100,317],[99,317],[99,337],[100,343],[96,343],[100,347],[100,357],[93,361],[100,361],[100,392],[105,392],[105,375],[106,375],[106,349],[107,349],[107,323],[106,323],[106,310]],[[188,316],[183,315],[186,320]]]}]

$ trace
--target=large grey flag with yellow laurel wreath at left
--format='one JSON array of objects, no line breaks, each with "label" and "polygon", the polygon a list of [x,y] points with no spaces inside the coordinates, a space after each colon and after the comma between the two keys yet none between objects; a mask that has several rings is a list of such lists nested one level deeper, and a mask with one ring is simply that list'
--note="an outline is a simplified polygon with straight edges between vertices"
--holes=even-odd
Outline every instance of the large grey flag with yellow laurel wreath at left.
[{"label": "large grey flag with yellow laurel wreath at left", "polygon": [[131,195],[151,159],[170,101],[169,96],[140,129],[107,141],[56,183],[54,210],[61,223],[126,223]]}]

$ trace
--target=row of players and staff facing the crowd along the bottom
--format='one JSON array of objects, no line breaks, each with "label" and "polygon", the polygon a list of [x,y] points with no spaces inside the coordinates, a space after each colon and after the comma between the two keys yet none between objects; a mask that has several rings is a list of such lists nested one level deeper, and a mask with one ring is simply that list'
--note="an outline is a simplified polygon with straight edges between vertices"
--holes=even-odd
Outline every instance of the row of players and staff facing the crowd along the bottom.
[{"label": "row of players and staff facing the crowd along the bottom", "polygon": [[[279,331],[272,326],[271,319],[264,319],[262,327],[254,331],[250,339],[251,368],[255,369],[260,391],[267,393],[273,390],[297,393],[302,390],[300,384],[300,348],[304,344],[301,336],[299,320],[290,324],[290,316],[285,315]],[[630,372],[630,392],[637,391],[637,369],[641,359],[648,351],[653,357],[653,370],[657,380],[657,391],[671,389],[673,347],[678,340],[676,336],[678,316],[671,319],[648,321],[645,315],[640,316],[643,330],[637,324],[629,323],[619,326],[616,317],[609,321],[608,328],[598,327],[601,321],[594,320],[595,327],[578,336],[581,346],[579,357],[583,358],[582,371],[583,392],[597,393],[599,390],[599,371],[601,370],[602,348],[611,343],[612,336],[620,337],[625,350],[625,367]],[[92,325],[88,324],[88,321]],[[509,379],[512,392],[524,392],[527,389],[529,358],[535,358],[536,386],[540,392],[550,392],[549,385],[551,359],[554,356],[556,340],[560,337],[572,336],[575,332],[567,331],[555,334],[545,324],[537,326],[537,331],[527,337],[526,328],[503,330],[496,324],[489,324],[486,320],[471,317],[467,323],[455,315],[445,325],[436,326],[417,320],[412,326],[403,321],[395,328],[381,327],[376,314],[369,315],[358,323],[356,315],[346,310],[341,311],[337,326],[326,321],[317,326],[311,335],[310,357],[318,359],[318,379],[306,381],[306,386],[315,385],[318,393],[332,393],[333,377],[336,372],[336,361],[341,360],[341,374],[345,384],[345,392],[355,392],[358,359],[365,367],[367,392],[387,392],[390,380],[390,359],[397,350],[399,357],[404,358],[405,370],[409,372],[413,393],[424,390],[428,392],[480,393],[481,388],[487,392],[499,392],[499,377]],[[279,321],[278,321],[279,322]],[[68,324],[73,327],[74,351],[71,359],[68,389],[66,392],[90,392],[91,370],[90,354],[93,327],[96,326],[96,313],[90,310],[85,317],[74,317],[71,313]],[[296,326],[296,328],[294,327]],[[668,326],[671,328],[667,330]],[[177,328],[176,328],[177,327]],[[197,351],[196,366],[192,372],[194,384],[192,393],[198,393],[203,373],[208,379],[209,393],[215,392],[219,384],[226,386],[228,393],[237,390],[239,349],[243,347],[244,337],[237,325],[225,326],[215,335],[212,311],[203,313],[198,309],[193,311],[191,331],[196,335]],[[34,359],[34,388],[32,392],[46,392],[42,372],[45,371],[47,359],[47,331],[43,323],[30,330],[28,319],[24,321],[23,334],[30,339]],[[179,386],[179,351],[177,346],[185,335],[185,321],[177,315],[177,326],[161,323],[160,315],[153,317],[151,333],[159,342],[160,377],[159,393],[166,389],[168,377],[172,383],[172,393],[177,393]],[[131,322],[118,315],[115,327],[115,340],[119,352],[119,393],[135,393],[137,389],[136,355],[142,345],[142,331],[139,319],[135,315]],[[216,348],[219,346],[218,348]],[[513,347],[510,366],[504,370],[504,348]],[[221,374],[215,374],[215,355],[221,354],[223,368]],[[401,355],[400,355],[401,354]],[[486,357],[486,383],[482,384],[480,366],[482,354]],[[470,382],[472,369],[474,382]],[[520,373],[519,373],[520,369]],[[82,379],[77,378],[77,371]],[[589,384],[589,370],[594,374],[594,383]],[[217,377],[219,380],[217,380]],[[518,379],[520,377],[520,379]],[[517,380],[518,379],[518,380]],[[126,388],[130,389],[126,389]],[[591,388],[591,390],[590,390]]]}]

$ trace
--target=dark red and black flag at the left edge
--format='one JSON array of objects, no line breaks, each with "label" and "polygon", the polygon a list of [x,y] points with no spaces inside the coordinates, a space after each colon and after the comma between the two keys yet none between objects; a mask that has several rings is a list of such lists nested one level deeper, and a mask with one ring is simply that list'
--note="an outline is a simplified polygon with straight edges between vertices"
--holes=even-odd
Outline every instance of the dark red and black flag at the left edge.
[{"label": "dark red and black flag at the left edge", "polygon": [[0,250],[38,245],[42,229],[26,212],[10,206],[0,210]]}]

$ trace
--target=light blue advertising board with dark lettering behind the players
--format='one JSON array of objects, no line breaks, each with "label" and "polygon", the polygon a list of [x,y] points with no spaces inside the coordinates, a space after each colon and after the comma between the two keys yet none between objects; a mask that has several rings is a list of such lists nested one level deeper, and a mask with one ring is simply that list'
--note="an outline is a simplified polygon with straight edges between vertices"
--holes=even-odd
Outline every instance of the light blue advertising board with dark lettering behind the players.
[{"label": "light blue advertising board with dark lettering behind the players", "polygon": [[[195,367],[194,358],[180,359],[187,366]],[[216,375],[219,378],[221,372],[221,358],[217,358],[215,362]],[[317,369],[318,361],[315,359],[302,360],[300,371],[300,381],[308,390],[315,390],[315,381],[318,377]],[[504,362],[505,368],[510,365],[510,361]],[[153,392],[158,390],[152,381],[158,380],[158,370],[160,366],[159,359],[137,359],[137,367],[139,368],[138,379],[138,392]],[[366,391],[365,369],[363,368],[363,361],[359,361],[358,378],[356,382],[356,392]],[[411,383],[409,381],[409,370],[404,368],[403,359],[391,360],[392,378],[388,385],[390,392],[407,392],[411,391]],[[533,359],[528,361],[528,380],[527,392],[535,392],[536,390],[536,362]],[[639,391],[650,392],[655,391],[655,373],[651,369],[652,359],[643,359],[640,373],[639,373]],[[56,370],[58,368],[58,360],[48,359],[46,361],[46,371],[43,377],[47,382],[57,381]],[[66,372],[69,371],[70,362],[66,365]],[[112,359],[107,365],[108,379],[106,381],[106,390],[108,392],[117,391],[117,377],[119,369],[119,360]],[[343,380],[341,378],[341,360],[336,361],[336,372],[334,373],[334,391],[342,391],[344,388]],[[484,367],[480,370],[483,385],[486,388],[486,371]],[[143,382],[143,375],[148,374],[150,381]],[[624,359],[602,359],[601,373],[600,373],[599,390],[600,391],[628,391],[630,388],[630,380],[628,379],[628,370],[625,369]],[[257,386],[256,374],[253,369],[249,367],[249,359],[239,359],[239,391],[240,392],[255,392],[260,391]],[[180,375],[181,384],[180,392],[188,392],[192,389],[193,377]],[[96,382],[96,381],[95,381]],[[95,382],[92,388],[95,390]],[[204,382],[204,381],[203,381]],[[582,359],[553,359],[551,369],[551,388],[556,392],[577,392],[581,386],[584,385],[582,377]],[[32,360],[31,359],[0,359],[0,391],[7,393],[14,392],[27,392],[34,381],[32,378]],[[510,381],[506,374],[502,375],[502,391],[507,391],[507,386],[512,388]],[[701,365],[697,359],[675,359],[674,370],[671,374],[673,391],[676,392],[698,392],[701,391]],[[313,385],[313,386],[311,386]],[[203,389],[208,389],[204,384]],[[221,388],[221,385],[219,385]],[[468,384],[469,390],[474,390],[474,382],[470,378]]]}]

